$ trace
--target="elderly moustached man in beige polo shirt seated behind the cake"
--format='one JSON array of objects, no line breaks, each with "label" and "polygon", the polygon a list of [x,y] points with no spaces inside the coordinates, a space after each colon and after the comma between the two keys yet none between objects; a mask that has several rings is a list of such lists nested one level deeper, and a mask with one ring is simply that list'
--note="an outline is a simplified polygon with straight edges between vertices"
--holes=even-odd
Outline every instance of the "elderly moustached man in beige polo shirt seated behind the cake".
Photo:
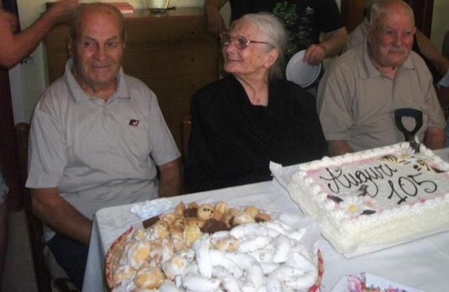
[{"label": "elderly moustached man in beige polo shirt seated behind the cake", "polygon": [[[394,111],[422,112],[420,141],[444,147],[444,115],[432,75],[411,51],[416,32],[413,10],[401,0],[372,6],[367,40],[333,62],[319,83],[317,108],[332,156],[404,141]],[[404,118],[407,130],[415,121]]]}]

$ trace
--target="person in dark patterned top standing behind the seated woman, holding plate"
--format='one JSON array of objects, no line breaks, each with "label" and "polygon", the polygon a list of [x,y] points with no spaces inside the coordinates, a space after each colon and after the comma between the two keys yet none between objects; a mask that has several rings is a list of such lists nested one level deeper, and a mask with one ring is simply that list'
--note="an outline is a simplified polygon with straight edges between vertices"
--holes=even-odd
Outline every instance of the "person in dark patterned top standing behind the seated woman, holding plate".
[{"label": "person in dark patterned top standing behind the seated woman, holding plate", "polygon": [[[227,1],[204,1],[209,32],[216,34],[226,30],[219,10]],[[325,58],[337,56],[346,45],[348,32],[341,22],[335,0],[230,0],[230,5],[231,21],[260,11],[278,16],[288,32],[287,62],[305,49],[304,62],[317,65]]]}]

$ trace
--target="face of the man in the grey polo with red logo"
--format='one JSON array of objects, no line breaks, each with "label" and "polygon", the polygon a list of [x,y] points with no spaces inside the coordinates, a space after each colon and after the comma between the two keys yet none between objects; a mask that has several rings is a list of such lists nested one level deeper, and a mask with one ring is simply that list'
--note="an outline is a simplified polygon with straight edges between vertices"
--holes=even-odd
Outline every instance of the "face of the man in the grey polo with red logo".
[{"label": "face of the man in the grey polo with red logo", "polygon": [[115,86],[124,47],[117,15],[104,8],[85,11],[71,47],[80,86]]}]

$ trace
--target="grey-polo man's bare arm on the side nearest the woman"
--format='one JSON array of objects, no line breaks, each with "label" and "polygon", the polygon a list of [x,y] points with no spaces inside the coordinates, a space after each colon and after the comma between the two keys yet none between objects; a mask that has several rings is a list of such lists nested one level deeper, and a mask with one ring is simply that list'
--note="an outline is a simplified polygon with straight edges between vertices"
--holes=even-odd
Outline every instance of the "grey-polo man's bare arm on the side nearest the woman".
[{"label": "grey-polo man's bare arm on the side nearest the woman", "polygon": [[180,158],[159,166],[159,197],[172,197],[181,192]]}]

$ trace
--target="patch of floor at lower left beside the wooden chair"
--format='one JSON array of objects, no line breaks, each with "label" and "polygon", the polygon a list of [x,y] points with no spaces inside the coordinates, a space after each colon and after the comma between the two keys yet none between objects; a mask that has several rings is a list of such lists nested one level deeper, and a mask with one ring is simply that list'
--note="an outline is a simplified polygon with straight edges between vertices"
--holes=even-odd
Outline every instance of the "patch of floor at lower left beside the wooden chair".
[{"label": "patch of floor at lower left beside the wooden chair", "polygon": [[29,250],[25,212],[10,212],[8,250],[1,290],[3,292],[37,291],[36,278]]}]

